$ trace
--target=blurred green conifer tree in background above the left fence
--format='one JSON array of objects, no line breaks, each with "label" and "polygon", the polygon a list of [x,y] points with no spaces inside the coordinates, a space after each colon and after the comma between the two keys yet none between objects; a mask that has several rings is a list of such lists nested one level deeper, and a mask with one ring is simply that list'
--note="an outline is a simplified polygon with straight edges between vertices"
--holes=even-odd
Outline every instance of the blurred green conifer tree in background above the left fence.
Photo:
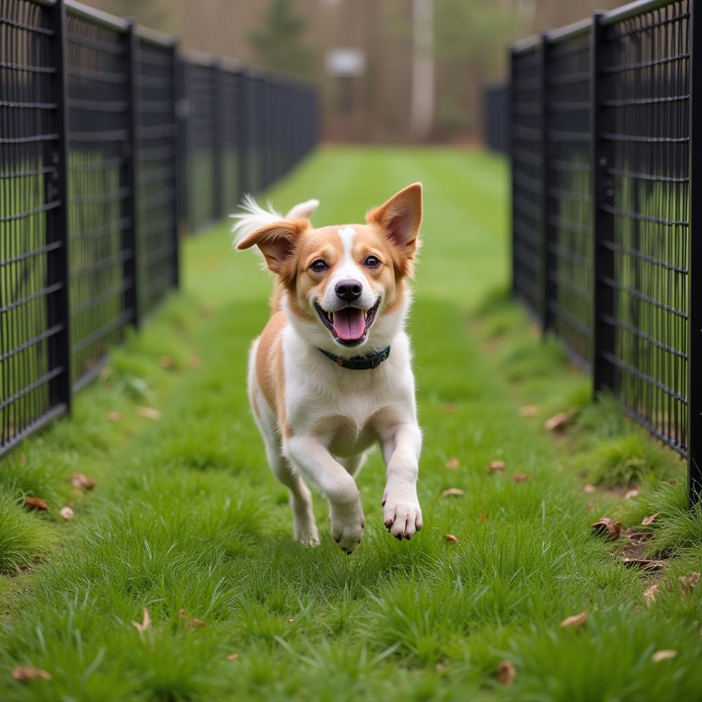
[{"label": "blurred green conifer tree in background above the left fence", "polygon": [[292,0],[271,0],[265,26],[249,34],[256,60],[269,68],[309,77],[314,52],[303,44],[307,18],[295,13]]}]

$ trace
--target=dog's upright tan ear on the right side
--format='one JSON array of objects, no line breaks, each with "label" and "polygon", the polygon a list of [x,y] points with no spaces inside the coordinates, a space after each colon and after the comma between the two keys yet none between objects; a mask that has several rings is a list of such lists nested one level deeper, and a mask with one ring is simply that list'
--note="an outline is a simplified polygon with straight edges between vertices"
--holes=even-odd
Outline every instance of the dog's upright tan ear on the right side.
[{"label": "dog's upright tan ear on the right side", "polygon": [[366,222],[378,225],[400,256],[412,259],[419,246],[422,223],[422,184],[413,183],[393,195],[387,202],[371,210]]}]

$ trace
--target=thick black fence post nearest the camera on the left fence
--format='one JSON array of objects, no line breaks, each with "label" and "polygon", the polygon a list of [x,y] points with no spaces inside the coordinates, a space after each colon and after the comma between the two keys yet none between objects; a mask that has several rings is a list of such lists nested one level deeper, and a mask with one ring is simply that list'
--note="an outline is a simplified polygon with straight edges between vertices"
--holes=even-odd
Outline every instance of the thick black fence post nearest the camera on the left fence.
[{"label": "thick black fence post nearest the camera on the left fence", "polygon": [[60,328],[48,339],[49,369],[61,369],[49,383],[51,405],[64,405],[71,411],[73,385],[71,369],[71,306],[68,240],[68,99],[66,78],[66,8],[63,0],[56,0],[49,8],[53,29],[51,65],[55,67],[53,97],[56,102],[55,132],[58,135],[47,142],[47,162],[53,171],[46,176],[44,187],[47,201],[60,201],[60,206],[46,212],[46,244],[60,244],[47,257],[48,286],[61,284],[60,289],[48,298],[47,328]]}]

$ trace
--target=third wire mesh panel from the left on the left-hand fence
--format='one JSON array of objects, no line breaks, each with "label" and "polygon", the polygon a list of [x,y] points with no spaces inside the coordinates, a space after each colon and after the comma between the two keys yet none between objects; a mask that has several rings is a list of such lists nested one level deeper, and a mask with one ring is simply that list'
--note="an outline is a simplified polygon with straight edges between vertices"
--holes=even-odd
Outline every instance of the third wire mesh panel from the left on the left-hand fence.
[{"label": "third wire mesh panel from the left on the left-hand fence", "polygon": [[178,280],[175,46],[138,39],[135,81],[138,304],[147,313]]}]

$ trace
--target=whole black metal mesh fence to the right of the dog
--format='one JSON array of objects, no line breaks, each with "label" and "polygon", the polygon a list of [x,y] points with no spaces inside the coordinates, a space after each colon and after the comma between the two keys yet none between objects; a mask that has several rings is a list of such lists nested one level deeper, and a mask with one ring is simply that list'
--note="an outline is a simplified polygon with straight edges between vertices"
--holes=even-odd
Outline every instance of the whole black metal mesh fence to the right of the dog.
[{"label": "whole black metal mesh fence to the right of the dog", "polygon": [[636,2],[516,44],[510,79],[513,293],[595,392],[614,392],[688,458],[691,501],[702,489],[701,28],[694,0]]}]

